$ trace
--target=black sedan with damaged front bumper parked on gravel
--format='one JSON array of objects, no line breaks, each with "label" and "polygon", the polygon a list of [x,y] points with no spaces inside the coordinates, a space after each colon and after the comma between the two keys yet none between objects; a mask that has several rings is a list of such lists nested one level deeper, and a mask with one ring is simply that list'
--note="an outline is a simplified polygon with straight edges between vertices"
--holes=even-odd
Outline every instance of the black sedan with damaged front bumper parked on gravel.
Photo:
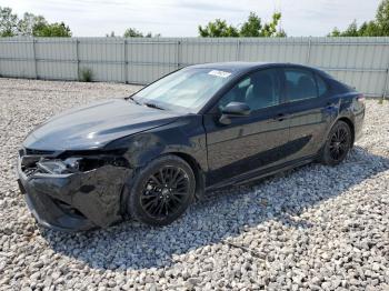
[{"label": "black sedan with damaged front bumper parked on gravel", "polygon": [[363,99],[298,64],[191,66],[48,120],[23,141],[18,181],[48,228],[163,225],[207,190],[340,163],[361,133]]}]

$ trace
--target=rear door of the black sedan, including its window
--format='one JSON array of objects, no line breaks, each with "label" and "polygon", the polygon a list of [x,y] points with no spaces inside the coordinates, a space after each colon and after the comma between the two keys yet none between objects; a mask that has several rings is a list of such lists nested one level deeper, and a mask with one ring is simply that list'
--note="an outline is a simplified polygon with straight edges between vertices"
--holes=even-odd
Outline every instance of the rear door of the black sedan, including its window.
[{"label": "rear door of the black sedan, including its window", "polygon": [[316,154],[329,124],[327,83],[313,71],[300,67],[283,69],[290,120],[288,161]]}]

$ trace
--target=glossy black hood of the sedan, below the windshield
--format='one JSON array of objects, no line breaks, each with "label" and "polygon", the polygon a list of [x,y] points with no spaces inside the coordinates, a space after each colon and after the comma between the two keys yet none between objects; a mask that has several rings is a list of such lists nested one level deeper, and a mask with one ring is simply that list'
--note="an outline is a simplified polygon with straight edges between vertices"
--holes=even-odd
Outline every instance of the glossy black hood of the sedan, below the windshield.
[{"label": "glossy black hood of the sedan, below the windshield", "polygon": [[49,119],[26,138],[23,147],[52,151],[99,149],[112,140],[168,124],[178,118],[177,112],[126,99],[100,101]]}]

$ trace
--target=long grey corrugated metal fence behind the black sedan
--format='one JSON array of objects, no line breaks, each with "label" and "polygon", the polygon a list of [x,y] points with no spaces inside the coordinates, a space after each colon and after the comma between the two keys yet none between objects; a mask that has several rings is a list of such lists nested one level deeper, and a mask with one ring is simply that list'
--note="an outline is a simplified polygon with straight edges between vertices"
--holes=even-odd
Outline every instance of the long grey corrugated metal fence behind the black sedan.
[{"label": "long grey corrugated metal fence behind the black sedan", "polygon": [[192,63],[278,61],[319,67],[371,97],[388,96],[389,38],[2,38],[0,76],[149,83]]}]

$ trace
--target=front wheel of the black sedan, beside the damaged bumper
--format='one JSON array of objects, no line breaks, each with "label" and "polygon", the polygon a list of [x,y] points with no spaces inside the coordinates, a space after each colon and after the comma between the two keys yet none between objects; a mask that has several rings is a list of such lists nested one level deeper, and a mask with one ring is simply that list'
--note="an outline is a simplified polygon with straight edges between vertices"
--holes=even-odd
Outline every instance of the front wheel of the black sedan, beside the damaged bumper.
[{"label": "front wheel of the black sedan, beside the damaged bumper", "polygon": [[127,211],[146,224],[166,225],[188,209],[194,191],[191,167],[176,155],[162,155],[134,175]]}]

